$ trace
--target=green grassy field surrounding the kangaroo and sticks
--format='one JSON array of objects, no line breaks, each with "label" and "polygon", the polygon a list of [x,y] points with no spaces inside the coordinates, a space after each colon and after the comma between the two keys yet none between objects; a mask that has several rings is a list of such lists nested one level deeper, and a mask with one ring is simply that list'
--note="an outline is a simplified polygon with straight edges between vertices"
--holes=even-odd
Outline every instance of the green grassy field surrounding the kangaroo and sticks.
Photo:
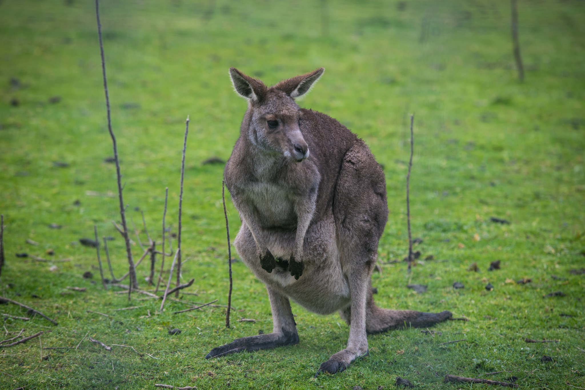
[{"label": "green grassy field surrounding the kangaroo and sticks", "polygon": [[[115,274],[126,271],[123,240],[111,224],[119,211],[111,196],[115,167],[104,162],[112,150],[94,4],[4,0],[1,294],[42,310],[59,325],[40,316],[4,321],[6,332],[23,327],[25,335],[52,332],[0,348],[0,388],[152,389],[163,383],[370,390],[393,388],[400,376],[418,388],[455,389],[472,386],[443,384],[445,374],[479,377],[494,371],[504,372],[480,378],[514,376],[525,389],[585,387],[585,275],[570,272],[585,263],[585,4],[519,2],[523,84],[512,57],[509,2],[322,4],[102,2],[128,215],[146,241],[138,211],[143,210],[150,234],[160,241],[168,187],[167,224],[176,232],[184,120],[190,115],[183,277],[195,278],[185,291],[198,296],[181,299],[218,299],[225,305],[223,165],[202,161],[228,158],[239,134],[245,102],[232,91],[228,68],[273,84],[323,66],[324,77],[301,106],[325,112],[359,134],[386,172],[390,216],[378,250],[382,272],[372,277],[378,305],[452,310],[469,321],[433,328],[441,334],[407,329],[370,336],[369,357],[340,374],[314,378],[319,364],[345,347],[349,328],[338,315],[314,315],[295,304],[297,346],[204,359],[212,347],[271,330],[263,284],[241,262],[233,264],[230,329],[222,307],[173,315],[189,306],[167,302],[158,313],[159,301],[146,295],[128,302],[116,288],[104,291],[95,249],[78,243],[93,237],[96,225],[100,236],[115,237],[109,241]],[[415,246],[422,256],[408,276],[404,263],[384,263],[407,251],[404,177],[412,112],[412,229],[423,241]],[[233,239],[240,222],[231,203],[228,211]],[[493,223],[493,216],[511,224]],[[133,248],[140,256],[140,247]],[[424,260],[429,255],[435,260]],[[66,258],[70,261],[60,261]],[[488,271],[495,260],[501,269]],[[467,271],[472,263],[478,272]],[[144,263],[137,270],[145,289],[147,268]],[[85,271],[93,279],[82,278]],[[515,282],[521,278],[532,282]],[[464,288],[454,289],[456,281]],[[415,294],[406,288],[409,282],[428,285],[428,291]],[[487,283],[493,291],[484,288]],[[555,291],[565,295],[543,298]],[[130,306],[139,308],[115,311]],[[26,316],[14,305],[2,305],[0,312]],[[239,317],[256,322],[236,322]],[[175,327],[182,332],[170,336],[167,331]],[[81,341],[85,334],[135,350],[106,351]],[[559,342],[527,344],[526,337]],[[465,340],[442,344],[460,339]]]}]

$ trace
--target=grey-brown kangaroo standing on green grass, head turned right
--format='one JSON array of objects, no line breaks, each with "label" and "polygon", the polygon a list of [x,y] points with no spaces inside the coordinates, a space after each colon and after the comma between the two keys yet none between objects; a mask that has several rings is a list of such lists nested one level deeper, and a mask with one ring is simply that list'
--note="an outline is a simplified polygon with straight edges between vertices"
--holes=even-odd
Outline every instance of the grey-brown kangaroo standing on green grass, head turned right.
[{"label": "grey-brown kangaroo standing on green grass, head turned right", "polygon": [[350,326],[346,348],[315,375],[335,374],[367,356],[367,333],[427,327],[451,316],[374,304],[370,277],[388,219],[386,180],[363,140],[295,102],[324,71],[268,88],[229,70],[233,88],[248,101],[224,171],[242,220],[234,245],[266,284],[274,329],[213,348],[205,358],[297,344],[289,299],[322,315],[338,311]]}]

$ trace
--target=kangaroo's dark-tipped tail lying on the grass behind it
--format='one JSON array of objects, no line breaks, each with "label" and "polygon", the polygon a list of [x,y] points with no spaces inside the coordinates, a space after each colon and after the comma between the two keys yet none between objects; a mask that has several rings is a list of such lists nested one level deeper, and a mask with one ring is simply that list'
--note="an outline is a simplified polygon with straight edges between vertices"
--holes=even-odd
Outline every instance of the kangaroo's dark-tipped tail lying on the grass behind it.
[{"label": "kangaroo's dark-tipped tail lying on the grass behind it", "polygon": [[366,331],[371,334],[404,327],[428,327],[443,322],[451,316],[452,314],[448,310],[441,313],[425,313],[415,310],[388,310],[370,306],[366,316]]}]

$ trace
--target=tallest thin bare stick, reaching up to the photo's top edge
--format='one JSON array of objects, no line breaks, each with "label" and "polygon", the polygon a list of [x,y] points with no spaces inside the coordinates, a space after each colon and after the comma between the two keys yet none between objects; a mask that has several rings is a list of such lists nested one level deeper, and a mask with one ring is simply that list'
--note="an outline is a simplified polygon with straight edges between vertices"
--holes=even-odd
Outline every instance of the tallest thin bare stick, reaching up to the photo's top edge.
[{"label": "tallest thin bare stick, reaching up to the photo's top edge", "polygon": [[[118,145],[116,144],[116,136],[112,130],[112,119],[110,115],[110,104],[108,94],[108,78],[106,77],[106,62],[104,57],[104,43],[102,42],[102,25],[99,22],[99,0],[95,0],[95,18],[98,23],[98,37],[99,37],[99,53],[102,59],[102,76],[104,78],[104,93],[106,97],[106,111],[108,113],[108,132],[112,138],[113,158],[116,162],[116,178],[118,179],[118,200],[120,203],[120,218],[122,219],[122,236],[126,244],[126,256],[128,257],[128,272],[130,274],[130,287],[138,288],[138,281],[136,279],[136,270],[134,261],[132,260],[132,248],[130,247],[130,237],[128,237],[128,225],[126,225],[126,215],[124,210],[124,199],[122,197],[122,174],[120,172],[120,160],[118,158]],[[132,288],[130,288],[132,290]],[[130,299],[130,295],[128,295]]]}]

